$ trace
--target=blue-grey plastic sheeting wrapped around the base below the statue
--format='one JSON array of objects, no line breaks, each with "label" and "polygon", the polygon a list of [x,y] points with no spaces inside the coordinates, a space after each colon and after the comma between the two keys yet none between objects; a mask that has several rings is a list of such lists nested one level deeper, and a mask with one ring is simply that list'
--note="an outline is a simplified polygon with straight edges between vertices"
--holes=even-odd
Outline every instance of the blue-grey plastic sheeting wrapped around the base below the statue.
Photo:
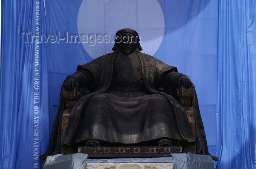
[{"label": "blue-grey plastic sheeting wrapped around the base below the statue", "polygon": [[211,156],[192,153],[172,153],[173,157],[159,158],[114,158],[114,159],[87,159],[88,154],[74,153],[70,155],[57,154],[48,156],[43,169],[86,169],[86,163],[154,163],[173,162],[175,169],[213,169]]}]

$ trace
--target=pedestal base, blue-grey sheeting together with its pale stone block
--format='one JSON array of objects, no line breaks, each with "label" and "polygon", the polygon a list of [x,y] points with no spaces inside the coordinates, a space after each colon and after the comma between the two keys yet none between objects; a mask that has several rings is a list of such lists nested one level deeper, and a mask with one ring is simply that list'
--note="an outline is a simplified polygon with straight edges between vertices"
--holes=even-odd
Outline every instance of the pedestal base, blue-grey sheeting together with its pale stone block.
[{"label": "pedestal base, blue-grey sheeting together with its pale stone block", "polygon": [[[211,156],[172,153],[172,157],[90,159],[88,154],[74,153],[48,156],[43,169],[214,169]],[[87,165],[87,167],[86,167]]]}]

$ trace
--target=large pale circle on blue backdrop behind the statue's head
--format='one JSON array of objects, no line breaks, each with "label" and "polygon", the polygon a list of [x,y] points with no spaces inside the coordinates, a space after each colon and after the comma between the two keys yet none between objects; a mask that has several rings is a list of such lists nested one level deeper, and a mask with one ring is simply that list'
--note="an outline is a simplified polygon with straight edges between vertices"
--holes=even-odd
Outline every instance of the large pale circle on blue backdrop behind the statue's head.
[{"label": "large pale circle on blue backdrop behind the statue's head", "polygon": [[137,31],[142,52],[154,55],[165,30],[158,1],[83,0],[78,13],[78,33],[91,58],[113,52],[114,36],[123,28]]}]

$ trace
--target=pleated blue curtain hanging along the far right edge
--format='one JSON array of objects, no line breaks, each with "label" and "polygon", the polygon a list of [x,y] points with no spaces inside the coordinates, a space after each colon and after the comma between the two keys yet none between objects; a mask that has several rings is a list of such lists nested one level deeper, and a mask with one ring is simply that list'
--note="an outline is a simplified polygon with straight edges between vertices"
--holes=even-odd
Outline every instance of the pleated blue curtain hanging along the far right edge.
[{"label": "pleated blue curtain hanging along the far right edge", "polygon": [[218,169],[255,168],[255,0],[219,0]]}]

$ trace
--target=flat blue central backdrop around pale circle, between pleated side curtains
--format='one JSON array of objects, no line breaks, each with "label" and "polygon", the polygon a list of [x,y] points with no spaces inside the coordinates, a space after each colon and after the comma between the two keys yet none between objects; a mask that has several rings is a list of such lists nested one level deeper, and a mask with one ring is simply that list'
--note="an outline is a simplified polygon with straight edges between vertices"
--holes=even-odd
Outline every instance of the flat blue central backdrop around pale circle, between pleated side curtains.
[{"label": "flat blue central backdrop around pale circle, between pleated side curtains", "polygon": [[[106,2],[108,3],[101,4],[105,5],[106,8],[108,7],[109,11],[106,10],[105,15],[110,15],[109,13],[113,12],[116,6],[118,6],[117,9],[119,9],[127,7],[130,4],[129,1],[118,2],[112,4],[114,6],[112,7],[113,9],[111,9],[109,7],[110,2]],[[61,3],[60,1],[46,1],[47,31],[53,33],[59,31],[60,36],[64,36],[65,31],[73,34],[77,32],[77,20],[74,18],[78,16],[81,3],[82,0],[80,2],[62,0]],[[207,123],[205,129],[209,149],[212,154],[215,154],[218,3],[216,0],[182,0],[182,3],[178,1],[162,0],[158,1],[158,3],[163,11],[165,30],[163,40],[154,56],[167,64],[177,66],[179,72],[188,74],[192,79],[200,99],[199,104],[203,121]],[[66,12],[66,8],[74,10]],[[98,8],[101,9],[103,7],[99,5]],[[127,13],[122,12],[118,13],[118,11],[116,11],[116,13],[118,16],[122,17],[123,20],[131,20],[132,15],[127,15]],[[137,15],[137,13],[135,12],[133,15]],[[125,25],[122,21],[116,21],[117,19],[113,17],[114,16],[106,18],[105,20],[115,24],[114,26],[109,25],[114,29],[114,32],[124,27],[131,27]],[[93,21],[94,18],[91,19],[91,22]],[[140,22],[144,23],[145,20],[140,20]],[[118,24],[121,24],[121,26]],[[94,24],[91,23],[89,26],[94,26]],[[116,28],[117,26],[120,28]],[[95,29],[97,29],[96,26]],[[107,29],[108,28],[103,29],[103,32],[86,33],[109,33],[106,31]],[[137,30],[136,28],[133,29]],[[157,31],[157,29],[155,30]],[[145,31],[147,31],[147,28],[145,28]],[[141,39],[143,43],[143,37]],[[89,62],[92,58],[87,51],[84,50],[81,43],[64,43],[62,41],[60,43],[47,43],[46,45],[50,83],[49,121],[50,124],[53,124],[59,106],[59,93],[63,80],[67,75],[75,72],[77,65]],[[112,47],[113,43],[110,44],[110,52]],[[144,48],[143,44],[142,48]],[[142,52],[146,51],[143,50]],[[60,66],[58,66],[58,64],[60,64]],[[51,129],[52,126],[50,126],[49,130]]]}]

